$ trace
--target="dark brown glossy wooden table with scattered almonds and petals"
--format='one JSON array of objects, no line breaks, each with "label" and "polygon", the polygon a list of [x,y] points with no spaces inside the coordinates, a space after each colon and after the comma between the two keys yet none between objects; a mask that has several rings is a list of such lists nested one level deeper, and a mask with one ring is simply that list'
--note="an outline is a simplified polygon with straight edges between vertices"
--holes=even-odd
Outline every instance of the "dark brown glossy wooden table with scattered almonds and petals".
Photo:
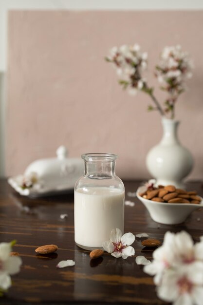
[{"label": "dark brown glossy wooden table with scattered almonds and petals", "polygon": [[[203,211],[195,211],[182,225],[166,226],[151,220],[137,198],[128,197],[140,181],[124,181],[126,200],[125,232],[147,232],[151,238],[163,240],[167,230],[188,231],[195,241],[203,235]],[[187,185],[203,195],[200,182]],[[68,217],[60,219],[60,214]],[[152,277],[135,263],[137,255],[152,257],[152,249],[144,248],[139,239],[132,245],[135,257],[116,259],[109,253],[91,261],[89,252],[74,244],[74,195],[29,199],[15,193],[6,180],[0,181],[0,242],[17,239],[13,248],[23,265],[12,276],[13,286],[0,299],[0,304],[166,304],[156,296]],[[38,246],[56,244],[54,254],[37,255]],[[61,260],[73,259],[74,267],[58,269]]]}]

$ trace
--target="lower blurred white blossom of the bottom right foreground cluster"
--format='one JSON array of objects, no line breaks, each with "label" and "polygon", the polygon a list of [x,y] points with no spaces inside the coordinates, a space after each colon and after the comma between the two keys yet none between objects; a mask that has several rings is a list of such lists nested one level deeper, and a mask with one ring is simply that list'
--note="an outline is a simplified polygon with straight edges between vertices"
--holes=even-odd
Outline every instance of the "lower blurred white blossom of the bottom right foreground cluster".
[{"label": "lower blurred white blossom of the bottom right foreground cluster", "polygon": [[168,270],[157,288],[157,295],[174,305],[202,305],[203,263]]}]

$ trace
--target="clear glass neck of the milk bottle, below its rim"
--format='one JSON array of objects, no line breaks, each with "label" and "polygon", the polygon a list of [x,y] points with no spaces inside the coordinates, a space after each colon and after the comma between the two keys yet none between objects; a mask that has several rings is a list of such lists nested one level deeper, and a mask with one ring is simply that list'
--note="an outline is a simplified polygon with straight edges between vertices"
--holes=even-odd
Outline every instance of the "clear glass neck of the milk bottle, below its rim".
[{"label": "clear glass neck of the milk bottle, below its rim", "polygon": [[84,176],[94,179],[112,178],[115,176],[115,161],[86,161]]}]

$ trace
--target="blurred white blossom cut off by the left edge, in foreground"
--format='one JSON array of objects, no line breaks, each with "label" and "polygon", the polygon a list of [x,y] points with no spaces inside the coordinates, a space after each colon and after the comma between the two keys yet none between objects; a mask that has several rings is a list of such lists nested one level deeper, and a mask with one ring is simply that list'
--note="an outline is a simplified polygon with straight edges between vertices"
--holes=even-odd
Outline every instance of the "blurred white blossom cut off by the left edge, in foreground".
[{"label": "blurred white blossom cut off by the left edge, in foreground", "polygon": [[10,275],[16,274],[20,270],[22,260],[18,256],[10,256],[10,243],[0,243],[0,288],[8,289],[11,284]]}]

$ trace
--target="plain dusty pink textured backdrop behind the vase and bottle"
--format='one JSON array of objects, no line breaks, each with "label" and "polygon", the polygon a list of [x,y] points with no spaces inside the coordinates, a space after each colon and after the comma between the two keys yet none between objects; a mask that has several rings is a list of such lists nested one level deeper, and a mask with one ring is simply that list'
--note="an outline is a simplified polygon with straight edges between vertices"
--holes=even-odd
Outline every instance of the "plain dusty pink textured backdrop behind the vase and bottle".
[{"label": "plain dusty pink textured backdrop behind the vase and bottle", "polygon": [[8,42],[7,175],[65,144],[70,156],[118,153],[121,178],[149,176],[145,157],[161,138],[160,116],[147,112],[147,95],[124,92],[104,61],[112,46],[138,42],[159,100],[152,69],[163,47],[181,44],[194,58],[176,117],[195,158],[190,178],[203,178],[203,11],[12,11]]}]

